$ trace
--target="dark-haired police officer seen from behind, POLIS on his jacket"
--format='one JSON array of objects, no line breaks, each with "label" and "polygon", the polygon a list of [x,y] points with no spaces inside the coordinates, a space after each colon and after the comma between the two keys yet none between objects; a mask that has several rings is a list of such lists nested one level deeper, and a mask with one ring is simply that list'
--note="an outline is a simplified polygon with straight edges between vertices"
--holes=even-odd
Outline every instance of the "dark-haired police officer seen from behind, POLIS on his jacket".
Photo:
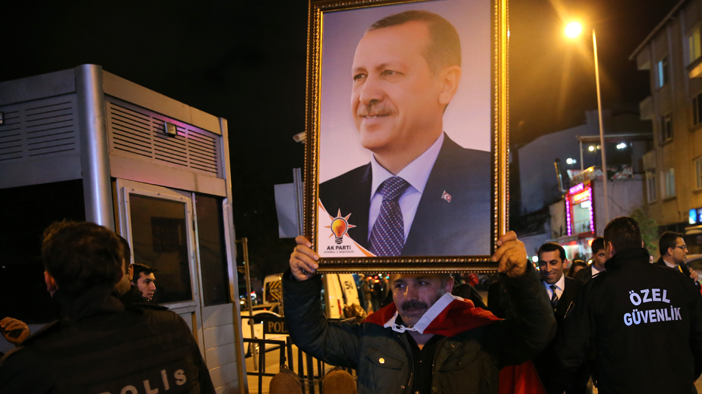
[{"label": "dark-haired police officer seen from behind, POLIS on his jacket", "polygon": [[215,392],[182,318],[117,299],[124,251],[114,232],[54,223],[41,255],[61,318],[0,360],[0,393]]}]

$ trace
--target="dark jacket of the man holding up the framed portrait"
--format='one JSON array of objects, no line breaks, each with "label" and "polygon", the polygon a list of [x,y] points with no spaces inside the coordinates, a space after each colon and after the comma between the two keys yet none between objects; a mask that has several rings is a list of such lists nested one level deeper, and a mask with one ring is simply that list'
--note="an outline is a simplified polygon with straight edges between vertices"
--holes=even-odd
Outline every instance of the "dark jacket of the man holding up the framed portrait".
[{"label": "dark jacket of the man holding up the framed portrait", "polygon": [[[533,266],[529,264],[519,278],[501,277],[512,297],[515,318],[441,339],[432,392],[496,394],[500,369],[531,359],[554,336],[551,306]],[[294,344],[327,364],[356,369],[359,394],[410,392],[413,360],[405,334],[369,322],[326,320],[319,300],[319,276],[298,282],[289,278],[288,271],[283,288],[285,318]]]}]

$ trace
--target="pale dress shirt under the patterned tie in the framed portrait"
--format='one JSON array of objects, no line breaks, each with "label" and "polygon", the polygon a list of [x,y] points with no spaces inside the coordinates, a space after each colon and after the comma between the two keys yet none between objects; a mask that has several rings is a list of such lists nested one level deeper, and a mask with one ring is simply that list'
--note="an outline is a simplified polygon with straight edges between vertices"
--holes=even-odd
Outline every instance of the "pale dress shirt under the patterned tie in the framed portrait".
[{"label": "pale dress shirt under the patterned tie in the framed portrait", "polygon": [[[397,173],[398,177],[406,180],[410,186],[405,189],[402,196],[399,196],[399,208],[402,210],[402,222],[404,222],[404,239],[407,240],[409,235],[409,229],[412,226],[414,220],[414,215],[417,213],[417,207],[419,206],[419,201],[422,198],[422,193],[424,192],[424,186],[426,186],[429,179],[429,175],[434,168],[434,163],[437,161],[439,156],[439,151],[441,150],[442,144],[444,144],[444,133],[441,133],[439,138],[432,144],[429,149],[424,151],[418,158],[414,159],[411,163],[405,166],[400,172]],[[382,165],[376,161],[376,156],[371,154],[371,169],[373,171],[373,180],[371,182],[371,210],[369,211],[368,218],[368,239],[371,239],[371,231],[373,231],[373,224],[376,224],[376,219],[380,215],[380,205],[383,204],[383,193],[378,193],[378,188],[380,184],[385,182],[385,179],[393,177],[390,171],[385,170]],[[441,196],[437,196],[441,198]]]}]

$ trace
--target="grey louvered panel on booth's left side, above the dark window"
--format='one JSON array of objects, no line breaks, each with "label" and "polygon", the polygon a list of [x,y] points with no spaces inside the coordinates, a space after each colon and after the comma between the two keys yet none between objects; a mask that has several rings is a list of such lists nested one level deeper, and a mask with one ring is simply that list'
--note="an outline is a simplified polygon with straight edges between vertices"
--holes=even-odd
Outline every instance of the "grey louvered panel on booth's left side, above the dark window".
[{"label": "grey louvered panel on booth's left side, above the dark window", "polygon": [[51,97],[1,107],[0,162],[79,152],[75,95]]}]

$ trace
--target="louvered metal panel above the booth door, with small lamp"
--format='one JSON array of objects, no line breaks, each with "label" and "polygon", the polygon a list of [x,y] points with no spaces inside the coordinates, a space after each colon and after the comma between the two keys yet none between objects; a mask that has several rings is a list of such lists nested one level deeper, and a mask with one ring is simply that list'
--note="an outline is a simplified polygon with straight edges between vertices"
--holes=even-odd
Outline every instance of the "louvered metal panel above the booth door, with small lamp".
[{"label": "louvered metal panel above the booth door, with small lamp", "polygon": [[[222,177],[221,137],[154,111],[106,96],[110,153]],[[177,135],[166,135],[165,122]]]}]

